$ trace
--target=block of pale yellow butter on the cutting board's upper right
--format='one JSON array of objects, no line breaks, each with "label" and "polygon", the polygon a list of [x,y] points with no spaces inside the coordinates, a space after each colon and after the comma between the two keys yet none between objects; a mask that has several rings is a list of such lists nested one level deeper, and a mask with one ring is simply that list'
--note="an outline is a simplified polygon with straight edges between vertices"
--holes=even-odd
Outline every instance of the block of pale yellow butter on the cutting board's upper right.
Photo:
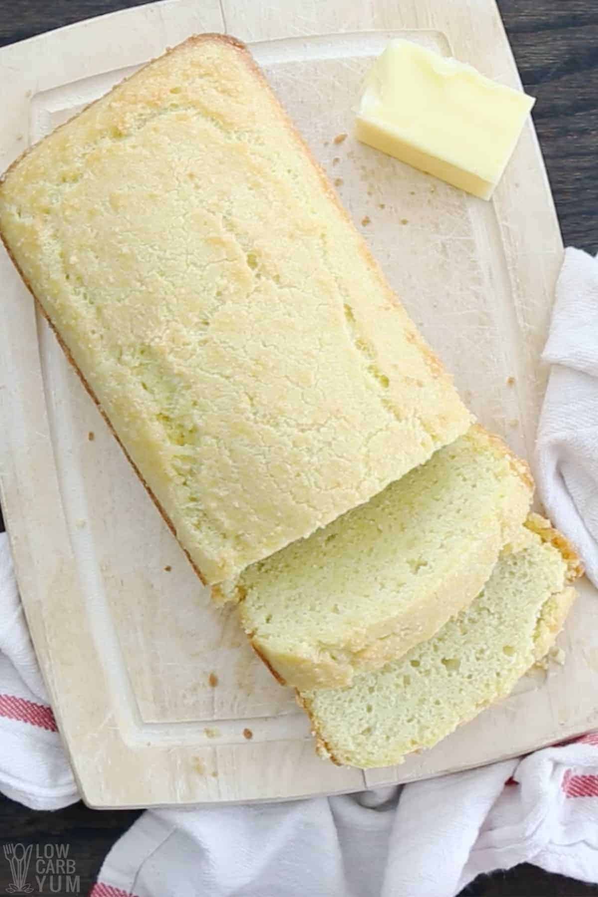
[{"label": "block of pale yellow butter on the cutting board's upper right", "polygon": [[356,136],[490,199],[534,102],[472,65],[392,40],[368,73]]}]

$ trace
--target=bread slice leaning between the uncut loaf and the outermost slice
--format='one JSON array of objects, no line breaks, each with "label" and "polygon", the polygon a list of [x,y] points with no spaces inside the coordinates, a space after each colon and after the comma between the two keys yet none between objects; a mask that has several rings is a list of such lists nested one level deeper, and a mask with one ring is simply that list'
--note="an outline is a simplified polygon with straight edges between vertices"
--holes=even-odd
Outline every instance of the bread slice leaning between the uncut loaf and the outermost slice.
[{"label": "bread slice leaning between the uncut loaf and the outermost slice", "polygon": [[241,623],[283,683],[351,684],[473,600],[532,491],[524,462],[475,425],[367,505],[245,570],[232,593]]}]

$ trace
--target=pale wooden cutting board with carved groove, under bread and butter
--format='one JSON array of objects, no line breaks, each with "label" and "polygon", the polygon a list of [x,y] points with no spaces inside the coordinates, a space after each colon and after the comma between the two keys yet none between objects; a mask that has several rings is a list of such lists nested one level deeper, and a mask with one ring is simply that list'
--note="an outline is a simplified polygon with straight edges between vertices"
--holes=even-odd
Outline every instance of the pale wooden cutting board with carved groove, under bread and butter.
[{"label": "pale wooden cutting board with carved groove, under bread and butter", "polygon": [[[493,0],[167,0],[0,50],[0,169],[199,31],[247,40],[429,342],[490,429],[531,457],[562,245],[533,126],[492,204],[351,136],[360,79],[406,37],[519,86]],[[342,139],[341,135],[348,135]],[[498,707],[403,766],[339,769],[217,610],[0,257],[0,483],[30,630],[91,806],[266,800],[455,771],[598,724],[598,602]]]}]

